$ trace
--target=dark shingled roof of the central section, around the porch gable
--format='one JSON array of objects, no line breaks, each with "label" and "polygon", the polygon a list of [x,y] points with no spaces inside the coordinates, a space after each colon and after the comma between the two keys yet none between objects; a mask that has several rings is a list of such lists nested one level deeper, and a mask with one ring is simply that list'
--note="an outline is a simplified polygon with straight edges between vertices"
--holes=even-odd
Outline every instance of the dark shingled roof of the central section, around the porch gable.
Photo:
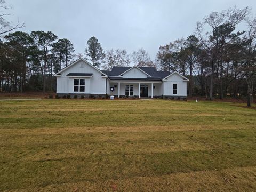
[{"label": "dark shingled roof of the central section, around the porch gable", "polygon": [[[111,71],[109,70],[102,70],[103,73],[105,73],[108,76],[119,76],[122,73],[124,73],[124,71],[130,69],[132,67],[113,67]],[[140,78],[141,80],[162,80],[164,77],[170,75],[170,72],[167,71],[157,71],[156,68],[154,67],[139,67],[141,70],[145,71],[145,73],[147,73],[148,75],[150,75],[151,77],[148,78]],[[153,78],[154,77],[154,78]],[[158,77],[158,78],[155,78]],[[118,80],[118,79],[126,79],[123,77],[111,77],[110,79],[113,80]],[[131,78],[127,78],[127,79],[131,79]],[[137,79],[134,79],[137,80]],[[139,80],[139,79],[138,79]]]}]

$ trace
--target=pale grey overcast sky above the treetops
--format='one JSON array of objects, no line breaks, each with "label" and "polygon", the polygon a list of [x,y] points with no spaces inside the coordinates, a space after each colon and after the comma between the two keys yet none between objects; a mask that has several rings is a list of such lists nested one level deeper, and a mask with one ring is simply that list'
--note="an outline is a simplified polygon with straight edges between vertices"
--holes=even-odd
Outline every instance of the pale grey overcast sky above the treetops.
[{"label": "pale grey overcast sky above the treetops", "polygon": [[160,45],[193,34],[197,21],[212,11],[230,6],[256,10],[256,0],[6,0],[14,14],[11,19],[26,22],[21,29],[52,31],[69,39],[76,53],[84,53],[87,39],[95,36],[103,49],[143,47],[151,59]]}]

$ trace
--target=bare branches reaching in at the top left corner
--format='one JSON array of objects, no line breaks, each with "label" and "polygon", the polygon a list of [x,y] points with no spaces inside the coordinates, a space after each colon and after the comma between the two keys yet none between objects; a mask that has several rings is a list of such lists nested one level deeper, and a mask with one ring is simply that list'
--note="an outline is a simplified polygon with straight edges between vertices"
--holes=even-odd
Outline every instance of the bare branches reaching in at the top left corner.
[{"label": "bare branches reaching in at the top left corner", "polygon": [[22,27],[25,27],[25,23],[20,24],[19,20],[18,23],[15,26],[12,26],[10,22],[6,21],[5,17],[11,16],[9,13],[2,13],[3,10],[10,10],[13,9],[12,6],[7,6],[5,0],[0,0],[0,35],[3,35],[5,33],[9,33],[10,31],[14,29],[19,29]]}]

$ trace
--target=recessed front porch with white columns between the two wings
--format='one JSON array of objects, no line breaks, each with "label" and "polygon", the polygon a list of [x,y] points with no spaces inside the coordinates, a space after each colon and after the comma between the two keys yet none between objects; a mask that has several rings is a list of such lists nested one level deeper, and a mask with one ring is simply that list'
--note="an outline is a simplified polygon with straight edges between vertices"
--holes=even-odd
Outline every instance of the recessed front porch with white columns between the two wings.
[{"label": "recessed front porch with white columns between the two wings", "polygon": [[163,84],[156,82],[110,82],[110,95],[116,97],[154,98],[163,95]]}]

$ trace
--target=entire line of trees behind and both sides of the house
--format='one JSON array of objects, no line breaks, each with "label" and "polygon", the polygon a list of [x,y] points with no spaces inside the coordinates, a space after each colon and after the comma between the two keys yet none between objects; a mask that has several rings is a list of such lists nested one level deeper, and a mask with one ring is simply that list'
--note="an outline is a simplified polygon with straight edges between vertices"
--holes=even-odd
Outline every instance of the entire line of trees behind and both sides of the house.
[{"label": "entire line of trees behind and both sides of the house", "polygon": [[[0,29],[4,34],[3,25]],[[74,51],[68,39],[58,39],[51,31],[5,35],[0,42],[2,91],[54,91],[53,74],[70,61],[85,58],[104,70],[137,65],[178,71],[190,80],[189,97],[205,95],[212,100],[247,96],[250,106],[255,92],[256,18],[248,7],[206,15],[187,38],[160,46],[154,61],[144,49],[130,54],[125,49],[105,51],[95,37],[87,41],[84,54],[75,55]]]}]

